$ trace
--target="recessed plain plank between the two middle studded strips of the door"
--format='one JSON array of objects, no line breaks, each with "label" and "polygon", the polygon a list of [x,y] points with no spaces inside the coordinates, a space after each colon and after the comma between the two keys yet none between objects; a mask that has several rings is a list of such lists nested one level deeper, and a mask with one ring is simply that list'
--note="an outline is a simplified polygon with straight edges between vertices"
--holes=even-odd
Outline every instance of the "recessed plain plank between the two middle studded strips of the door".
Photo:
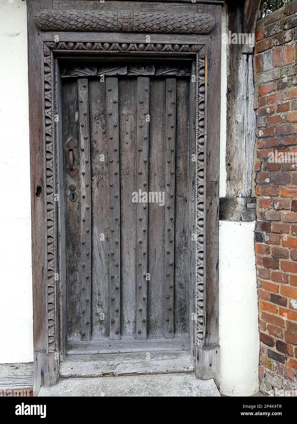
[{"label": "recessed plain plank between the two middle studded strips of the door", "polygon": [[119,80],[119,149],[121,193],[121,338],[136,329],[136,80]]}]

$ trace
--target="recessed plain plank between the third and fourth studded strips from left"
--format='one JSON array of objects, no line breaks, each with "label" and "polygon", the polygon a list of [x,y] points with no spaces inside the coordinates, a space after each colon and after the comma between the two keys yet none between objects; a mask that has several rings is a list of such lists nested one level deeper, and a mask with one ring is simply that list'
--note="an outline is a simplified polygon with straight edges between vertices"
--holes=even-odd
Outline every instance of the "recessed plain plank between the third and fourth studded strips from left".
[{"label": "recessed plain plank between the third and fourth studded strips from left", "polygon": [[[166,81],[150,81],[150,132],[148,191],[165,192]],[[165,208],[148,205],[147,337],[164,337],[164,225]]]}]

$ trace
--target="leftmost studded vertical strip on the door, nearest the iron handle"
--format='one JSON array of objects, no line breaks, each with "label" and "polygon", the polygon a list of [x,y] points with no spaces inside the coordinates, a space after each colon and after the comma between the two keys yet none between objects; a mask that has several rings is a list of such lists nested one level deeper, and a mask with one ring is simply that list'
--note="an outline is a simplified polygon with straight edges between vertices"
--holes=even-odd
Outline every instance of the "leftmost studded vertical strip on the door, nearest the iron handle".
[{"label": "leftmost studded vertical strip on the door, nearest the iron handle", "polygon": [[91,167],[88,80],[78,79],[81,187],[81,340],[91,340]]}]

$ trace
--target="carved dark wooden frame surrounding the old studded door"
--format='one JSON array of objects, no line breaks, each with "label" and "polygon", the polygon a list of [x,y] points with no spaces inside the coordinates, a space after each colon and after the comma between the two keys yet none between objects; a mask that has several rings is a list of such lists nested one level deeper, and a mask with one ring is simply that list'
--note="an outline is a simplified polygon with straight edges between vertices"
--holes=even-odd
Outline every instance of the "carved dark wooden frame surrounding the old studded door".
[{"label": "carved dark wooden frame surrounding the old studded door", "polygon": [[[201,4],[153,1],[144,11],[133,2],[84,1],[71,11],[65,2],[28,1],[28,76],[31,157],[34,391],[58,379],[65,355],[65,259],[63,168],[61,140],[61,58],[145,57],[193,59],[195,81],[191,100],[196,162],[189,185],[189,212],[194,317],[191,334],[194,371],[219,385],[218,345],[218,220],[221,1]],[[97,4],[94,10],[94,3]],[[75,3],[76,4],[76,3]],[[89,8],[88,8],[89,6]],[[92,9],[93,8],[93,9]],[[182,12],[180,12],[180,8]],[[161,11],[160,11],[161,10]],[[178,11],[175,13],[175,11]],[[201,13],[201,11],[203,13]],[[78,17],[78,20],[75,20]],[[160,23],[161,22],[161,23]],[[122,32],[125,32],[123,34]],[[147,42],[147,35],[150,40]],[[205,101],[206,100],[206,101]],[[207,133],[208,121],[208,133]],[[191,126],[191,124],[190,124]],[[207,147],[206,147],[207,146]],[[191,152],[190,152],[191,153]],[[191,158],[190,158],[191,160]],[[192,242],[191,233],[195,233]],[[192,293],[192,292],[191,292]]]}]

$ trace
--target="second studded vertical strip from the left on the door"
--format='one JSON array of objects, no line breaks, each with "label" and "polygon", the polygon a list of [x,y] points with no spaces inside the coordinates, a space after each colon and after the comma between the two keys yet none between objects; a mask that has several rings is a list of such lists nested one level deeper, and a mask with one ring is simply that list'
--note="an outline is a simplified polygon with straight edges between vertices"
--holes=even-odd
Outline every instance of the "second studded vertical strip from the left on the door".
[{"label": "second studded vertical strip from the left on the door", "polygon": [[119,193],[119,111],[118,80],[106,78],[108,128],[108,175],[110,207],[110,329],[109,339],[120,335],[120,193]]}]

